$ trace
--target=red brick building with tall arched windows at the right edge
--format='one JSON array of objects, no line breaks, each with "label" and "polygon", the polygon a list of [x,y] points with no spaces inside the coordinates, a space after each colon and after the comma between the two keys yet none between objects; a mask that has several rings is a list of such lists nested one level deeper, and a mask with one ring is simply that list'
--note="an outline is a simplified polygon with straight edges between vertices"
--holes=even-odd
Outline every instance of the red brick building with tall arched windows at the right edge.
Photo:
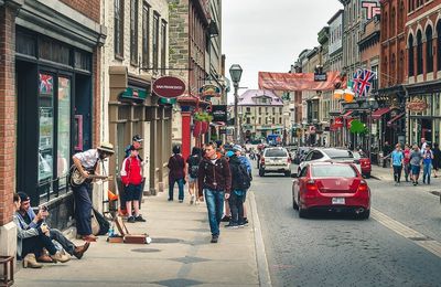
[{"label": "red brick building with tall arched windows at the right edge", "polygon": [[405,63],[408,96],[408,135],[410,144],[426,138],[441,141],[441,3],[405,1]]}]

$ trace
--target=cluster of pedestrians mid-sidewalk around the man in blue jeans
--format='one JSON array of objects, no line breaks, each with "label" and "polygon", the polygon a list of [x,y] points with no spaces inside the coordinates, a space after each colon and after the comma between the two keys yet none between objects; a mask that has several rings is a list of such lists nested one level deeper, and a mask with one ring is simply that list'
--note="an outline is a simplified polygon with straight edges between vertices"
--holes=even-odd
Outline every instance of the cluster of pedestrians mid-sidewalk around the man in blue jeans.
[{"label": "cluster of pedestrians mid-sidewalk around the man in blue jeans", "polygon": [[179,187],[179,202],[184,202],[184,185],[189,182],[190,204],[205,201],[212,233],[212,243],[217,243],[220,222],[225,227],[237,228],[248,223],[244,206],[247,190],[252,180],[251,164],[243,155],[240,145],[208,142],[203,149],[194,147],[184,160],[179,146],[170,157],[169,201],[173,201],[174,183]]}]

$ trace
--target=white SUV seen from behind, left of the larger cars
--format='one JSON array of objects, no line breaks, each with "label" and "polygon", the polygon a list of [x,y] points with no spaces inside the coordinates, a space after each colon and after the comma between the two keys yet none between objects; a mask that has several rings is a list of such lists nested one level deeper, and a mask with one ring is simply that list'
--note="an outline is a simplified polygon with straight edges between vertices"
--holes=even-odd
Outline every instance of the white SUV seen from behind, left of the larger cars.
[{"label": "white SUV seen from behind, left of the larger cars", "polygon": [[283,172],[291,176],[291,157],[286,148],[266,148],[260,157],[259,176],[268,172]]}]

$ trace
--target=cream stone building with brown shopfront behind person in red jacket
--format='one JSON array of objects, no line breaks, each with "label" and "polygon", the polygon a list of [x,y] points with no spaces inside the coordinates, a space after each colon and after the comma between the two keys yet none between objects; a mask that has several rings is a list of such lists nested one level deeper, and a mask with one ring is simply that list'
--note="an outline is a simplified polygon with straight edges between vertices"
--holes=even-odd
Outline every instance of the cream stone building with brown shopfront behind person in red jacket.
[{"label": "cream stone building with brown shopfront behind person in red jacket", "polygon": [[117,0],[103,11],[108,39],[101,57],[101,130],[116,148],[109,171],[119,174],[126,147],[140,135],[144,138],[140,155],[148,158],[144,192],[155,193],[166,185],[164,164],[172,149],[173,103],[151,93],[152,82],[169,73],[169,3]]}]

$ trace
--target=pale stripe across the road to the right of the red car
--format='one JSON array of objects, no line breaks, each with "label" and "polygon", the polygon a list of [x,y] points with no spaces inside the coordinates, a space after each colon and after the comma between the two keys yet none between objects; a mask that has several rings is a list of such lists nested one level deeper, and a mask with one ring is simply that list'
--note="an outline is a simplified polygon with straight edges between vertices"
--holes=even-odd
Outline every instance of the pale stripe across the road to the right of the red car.
[{"label": "pale stripe across the road to the right of the red car", "polygon": [[370,209],[370,216],[379,222],[381,225],[386,226],[387,228],[394,231],[395,233],[411,240],[415,244],[421,246],[422,248],[427,249],[428,252],[441,257],[441,243],[434,240],[429,240],[422,233],[415,231],[405,224],[390,219],[386,214],[379,212],[378,210]]}]

